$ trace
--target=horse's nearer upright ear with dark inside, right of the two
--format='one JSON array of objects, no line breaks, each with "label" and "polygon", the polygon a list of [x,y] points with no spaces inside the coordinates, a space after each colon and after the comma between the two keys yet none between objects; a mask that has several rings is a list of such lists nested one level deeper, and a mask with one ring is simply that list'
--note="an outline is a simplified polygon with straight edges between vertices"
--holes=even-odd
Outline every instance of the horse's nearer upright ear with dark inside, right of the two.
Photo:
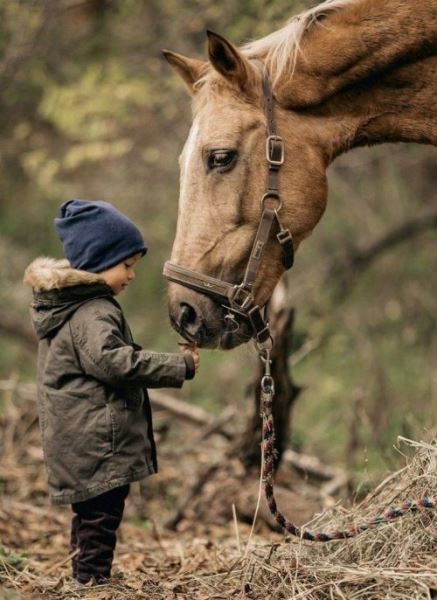
[{"label": "horse's nearer upright ear with dark inside, right of the two", "polygon": [[241,90],[248,91],[255,79],[253,65],[235,46],[218,33],[207,31],[206,34],[209,60],[214,69]]}]

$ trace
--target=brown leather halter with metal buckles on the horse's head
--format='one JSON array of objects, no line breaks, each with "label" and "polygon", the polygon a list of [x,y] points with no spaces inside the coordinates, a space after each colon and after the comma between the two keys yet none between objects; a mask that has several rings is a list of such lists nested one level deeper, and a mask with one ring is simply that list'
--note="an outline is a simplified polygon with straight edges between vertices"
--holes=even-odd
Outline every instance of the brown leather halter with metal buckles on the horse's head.
[{"label": "brown leather halter with metal buckles on the horse's head", "polygon": [[[167,261],[164,264],[163,275],[174,283],[210,296],[226,308],[233,318],[233,313],[249,319],[255,341],[264,345],[271,340],[268,323],[263,318],[262,307],[255,302],[253,286],[261,266],[265,246],[269,240],[273,224],[276,222],[279,232],[276,239],[282,247],[282,264],[285,269],[293,265],[293,239],[288,229],[285,229],[279,219],[281,200],[279,197],[279,169],[284,164],[284,142],[277,134],[273,94],[267,70],[262,63],[257,66],[262,73],[262,86],[264,94],[264,112],[267,121],[266,159],[268,164],[267,189],[261,199],[262,215],[258,230],[252,245],[250,257],[246,266],[243,281],[240,284],[232,284],[221,279],[216,279],[198,271],[181,267]],[[271,206],[273,204],[273,206]]]}]

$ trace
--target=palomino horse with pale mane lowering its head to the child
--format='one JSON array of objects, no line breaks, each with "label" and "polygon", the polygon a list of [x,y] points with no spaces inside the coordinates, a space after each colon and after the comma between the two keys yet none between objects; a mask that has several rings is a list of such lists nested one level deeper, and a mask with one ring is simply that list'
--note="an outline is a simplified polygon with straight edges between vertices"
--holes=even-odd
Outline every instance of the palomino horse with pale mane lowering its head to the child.
[{"label": "palomino horse with pale mane lowering its head to the child", "polygon": [[[164,51],[194,99],[171,263],[215,281],[243,279],[266,189],[263,72],[284,141],[281,225],[295,251],[324,212],[337,156],[383,142],[437,144],[436,23],[436,0],[327,0],[242,48],[208,32],[209,61]],[[259,307],[284,271],[275,233],[252,282]],[[251,337],[238,311],[229,330],[222,303],[174,281],[170,318],[188,340],[232,348]]]}]

